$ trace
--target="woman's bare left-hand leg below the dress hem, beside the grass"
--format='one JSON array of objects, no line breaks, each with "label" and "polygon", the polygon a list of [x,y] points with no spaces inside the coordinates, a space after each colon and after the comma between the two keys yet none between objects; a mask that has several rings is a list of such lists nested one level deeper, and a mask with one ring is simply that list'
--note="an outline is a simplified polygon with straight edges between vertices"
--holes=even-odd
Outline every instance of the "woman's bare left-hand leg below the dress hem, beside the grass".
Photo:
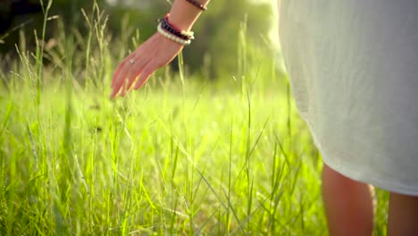
[{"label": "woman's bare left-hand leg below the dress hem, beside the grass", "polygon": [[370,236],[374,204],[370,185],[353,181],[324,164],[322,198],[331,236]]}]

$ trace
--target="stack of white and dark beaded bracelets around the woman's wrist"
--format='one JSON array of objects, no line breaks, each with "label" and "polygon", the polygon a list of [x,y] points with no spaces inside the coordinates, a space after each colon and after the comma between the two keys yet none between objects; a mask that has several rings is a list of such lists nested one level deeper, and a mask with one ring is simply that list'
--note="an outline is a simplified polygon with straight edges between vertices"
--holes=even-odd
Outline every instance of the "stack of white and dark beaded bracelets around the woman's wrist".
[{"label": "stack of white and dark beaded bracelets around the woman's wrist", "polygon": [[194,33],[192,31],[179,30],[172,25],[168,20],[169,14],[167,14],[158,24],[157,30],[165,38],[169,38],[172,41],[181,45],[189,45],[191,40],[194,39]]}]

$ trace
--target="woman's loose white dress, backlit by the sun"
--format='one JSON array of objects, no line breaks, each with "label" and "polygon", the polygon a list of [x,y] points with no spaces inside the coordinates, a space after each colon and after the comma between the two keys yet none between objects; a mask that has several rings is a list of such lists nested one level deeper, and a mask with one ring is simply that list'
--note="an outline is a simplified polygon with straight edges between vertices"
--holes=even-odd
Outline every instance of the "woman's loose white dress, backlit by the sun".
[{"label": "woman's loose white dress, backlit by the sun", "polygon": [[324,163],[418,196],[418,1],[282,0],[280,43]]}]

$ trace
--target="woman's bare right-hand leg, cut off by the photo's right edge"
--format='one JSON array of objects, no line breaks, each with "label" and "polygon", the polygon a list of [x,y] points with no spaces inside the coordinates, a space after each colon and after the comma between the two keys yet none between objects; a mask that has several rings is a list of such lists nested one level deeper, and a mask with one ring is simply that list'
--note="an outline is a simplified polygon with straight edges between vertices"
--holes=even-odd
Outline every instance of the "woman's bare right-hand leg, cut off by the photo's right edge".
[{"label": "woman's bare right-hand leg, cut off by the photo's right edge", "polygon": [[418,235],[418,197],[390,193],[388,235]]}]

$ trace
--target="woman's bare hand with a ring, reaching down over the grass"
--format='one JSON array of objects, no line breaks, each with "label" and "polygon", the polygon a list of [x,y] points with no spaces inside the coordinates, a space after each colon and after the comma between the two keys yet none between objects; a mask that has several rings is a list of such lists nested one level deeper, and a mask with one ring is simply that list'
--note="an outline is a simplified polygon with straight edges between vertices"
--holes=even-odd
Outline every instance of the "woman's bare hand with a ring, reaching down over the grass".
[{"label": "woman's bare hand with a ring, reaching down over the grass", "polygon": [[158,68],[170,63],[182,48],[183,45],[155,33],[118,65],[113,75],[111,97],[118,94],[124,97],[135,81],[134,89],[141,88]]}]

